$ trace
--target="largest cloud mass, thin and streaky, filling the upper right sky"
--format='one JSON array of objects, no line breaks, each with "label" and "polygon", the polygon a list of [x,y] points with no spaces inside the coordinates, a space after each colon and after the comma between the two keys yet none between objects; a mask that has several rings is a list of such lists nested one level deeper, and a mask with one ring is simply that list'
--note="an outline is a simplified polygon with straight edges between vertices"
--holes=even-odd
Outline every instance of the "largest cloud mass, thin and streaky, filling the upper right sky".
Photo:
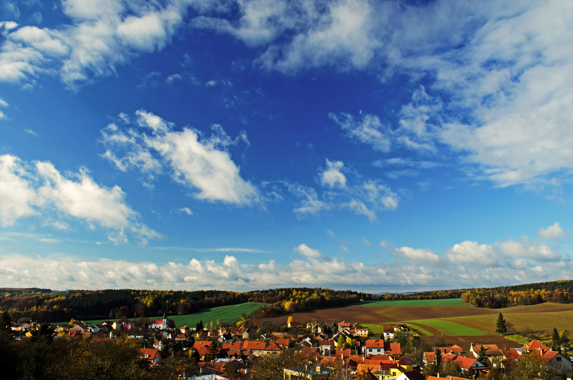
[{"label": "largest cloud mass, thin and streaky, filling the upper right sky", "polygon": [[[376,115],[329,116],[376,151],[452,154],[475,165],[477,179],[505,187],[570,176],[572,7],[253,0],[237,3],[233,16],[199,16],[191,24],[264,46],[254,60],[264,69],[368,70],[382,83],[409,76],[411,99],[393,110],[393,126]],[[425,87],[417,86],[422,77]]]}]

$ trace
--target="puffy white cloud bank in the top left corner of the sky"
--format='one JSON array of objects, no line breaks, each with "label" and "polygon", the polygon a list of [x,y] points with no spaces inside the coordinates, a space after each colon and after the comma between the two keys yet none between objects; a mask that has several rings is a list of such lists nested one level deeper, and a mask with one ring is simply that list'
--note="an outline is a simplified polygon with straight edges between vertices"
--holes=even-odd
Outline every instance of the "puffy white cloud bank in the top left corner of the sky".
[{"label": "puffy white cloud bank in the top left corner of the sky", "polygon": [[[117,65],[140,53],[163,49],[191,3],[64,0],[61,10],[69,25],[41,29],[3,22],[0,80],[33,84],[39,75],[58,75],[66,87],[76,90],[112,75]],[[206,3],[201,7],[209,8]]]}]

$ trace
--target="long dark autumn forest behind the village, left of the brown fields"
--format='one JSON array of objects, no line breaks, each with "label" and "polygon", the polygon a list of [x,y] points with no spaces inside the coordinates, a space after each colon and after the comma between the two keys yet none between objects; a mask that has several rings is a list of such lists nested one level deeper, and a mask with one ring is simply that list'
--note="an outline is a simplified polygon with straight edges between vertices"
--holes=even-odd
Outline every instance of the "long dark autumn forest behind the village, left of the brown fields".
[{"label": "long dark autumn forest behind the village, left of the brown fields", "polygon": [[265,317],[273,313],[347,305],[360,298],[358,292],[351,290],[322,288],[278,288],[244,293],[223,290],[105,289],[68,290],[65,293],[20,290],[0,294],[0,311],[9,312],[14,321],[154,317],[162,315],[163,311],[168,315],[186,315],[203,308],[246,302],[273,304],[265,308]]}]

